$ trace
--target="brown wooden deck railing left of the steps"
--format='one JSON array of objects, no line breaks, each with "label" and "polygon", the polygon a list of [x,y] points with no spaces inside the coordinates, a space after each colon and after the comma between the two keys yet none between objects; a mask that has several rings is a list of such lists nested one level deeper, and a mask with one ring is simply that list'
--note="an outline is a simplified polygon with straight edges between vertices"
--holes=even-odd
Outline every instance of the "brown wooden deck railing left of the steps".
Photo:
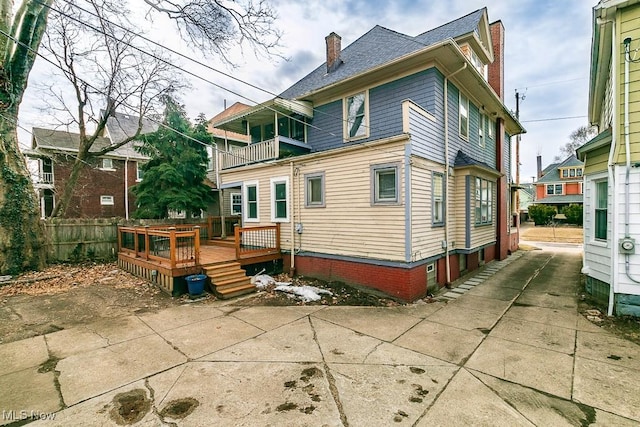
[{"label": "brown wooden deck railing left of the steps", "polygon": [[118,250],[169,267],[200,263],[199,225],[118,227]]}]

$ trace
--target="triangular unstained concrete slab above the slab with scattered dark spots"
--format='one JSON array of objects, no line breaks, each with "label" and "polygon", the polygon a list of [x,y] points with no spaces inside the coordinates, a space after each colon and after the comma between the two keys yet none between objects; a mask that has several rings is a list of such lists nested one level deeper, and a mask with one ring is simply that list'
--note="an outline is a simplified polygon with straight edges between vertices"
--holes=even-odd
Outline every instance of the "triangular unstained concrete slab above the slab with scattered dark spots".
[{"label": "triangular unstained concrete slab above the slab with scattered dark spots", "polygon": [[305,317],[199,360],[304,363],[321,362],[322,354],[314,340],[309,318]]}]

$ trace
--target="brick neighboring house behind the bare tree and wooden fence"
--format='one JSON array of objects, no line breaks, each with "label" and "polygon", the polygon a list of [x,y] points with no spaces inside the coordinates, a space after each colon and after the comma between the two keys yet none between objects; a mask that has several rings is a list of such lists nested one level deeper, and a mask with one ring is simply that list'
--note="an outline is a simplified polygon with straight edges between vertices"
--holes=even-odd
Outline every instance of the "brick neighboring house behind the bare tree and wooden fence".
[{"label": "brick neighboring house behind the bare tree and wooden fence", "polygon": [[[123,141],[133,135],[138,118],[115,113],[107,120],[104,136],[98,137],[91,151]],[[153,122],[143,121],[143,133],[157,129]],[[71,173],[78,152],[80,135],[52,129],[33,128],[31,149],[25,155],[35,164],[34,187],[40,198],[42,218],[51,216],[57,194]],[[128,143],[88,162],[80,173],[66,218],[129,218],[135,211],[131,187],[142,179],[141,164],[148,160]]]}]

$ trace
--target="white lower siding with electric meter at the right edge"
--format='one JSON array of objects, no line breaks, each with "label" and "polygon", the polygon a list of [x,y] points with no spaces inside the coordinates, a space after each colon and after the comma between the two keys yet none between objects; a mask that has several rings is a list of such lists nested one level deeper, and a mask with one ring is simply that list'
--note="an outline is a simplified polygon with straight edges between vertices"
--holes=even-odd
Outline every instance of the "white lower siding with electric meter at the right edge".
[{"label": "white lower siding with electric meter at the right edge", "polygon": [[[625,237],[625,167],[616,166],[616,197],[618,209],[616,210],[618,227],[617,234],[613,236],[612,244],[618,245],[620,239]],[[640,282],[640,170],[631,168],[629,178],[629,236],[636,240],[636,253],[629,255],[629,271],[633,279]],[[626,256],[618,256],[618,286],[616,293],[640,295],[640,283],[634,283],[625,272]]]}]

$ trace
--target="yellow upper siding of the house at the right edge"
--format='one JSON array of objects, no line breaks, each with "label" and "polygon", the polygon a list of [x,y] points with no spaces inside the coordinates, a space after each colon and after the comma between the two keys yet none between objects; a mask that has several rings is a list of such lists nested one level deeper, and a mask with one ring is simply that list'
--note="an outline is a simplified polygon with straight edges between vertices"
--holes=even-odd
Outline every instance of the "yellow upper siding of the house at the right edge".
[{"label": "yellow upper siding of the house at the right edge", "polygon": [[[620,41],[621,55],[619,56],[619,138],[618,149],[616,150],[616,163],[624,163],[626,161],[624,146],[624,47],[622,41],[631,37],[631,55],[634,50],[640,47],[640,5],[634,5],[622,9],[620,13]],[[629,64],[629,134],[631,141],[631,161],[640,161],[640,63]]]}]

